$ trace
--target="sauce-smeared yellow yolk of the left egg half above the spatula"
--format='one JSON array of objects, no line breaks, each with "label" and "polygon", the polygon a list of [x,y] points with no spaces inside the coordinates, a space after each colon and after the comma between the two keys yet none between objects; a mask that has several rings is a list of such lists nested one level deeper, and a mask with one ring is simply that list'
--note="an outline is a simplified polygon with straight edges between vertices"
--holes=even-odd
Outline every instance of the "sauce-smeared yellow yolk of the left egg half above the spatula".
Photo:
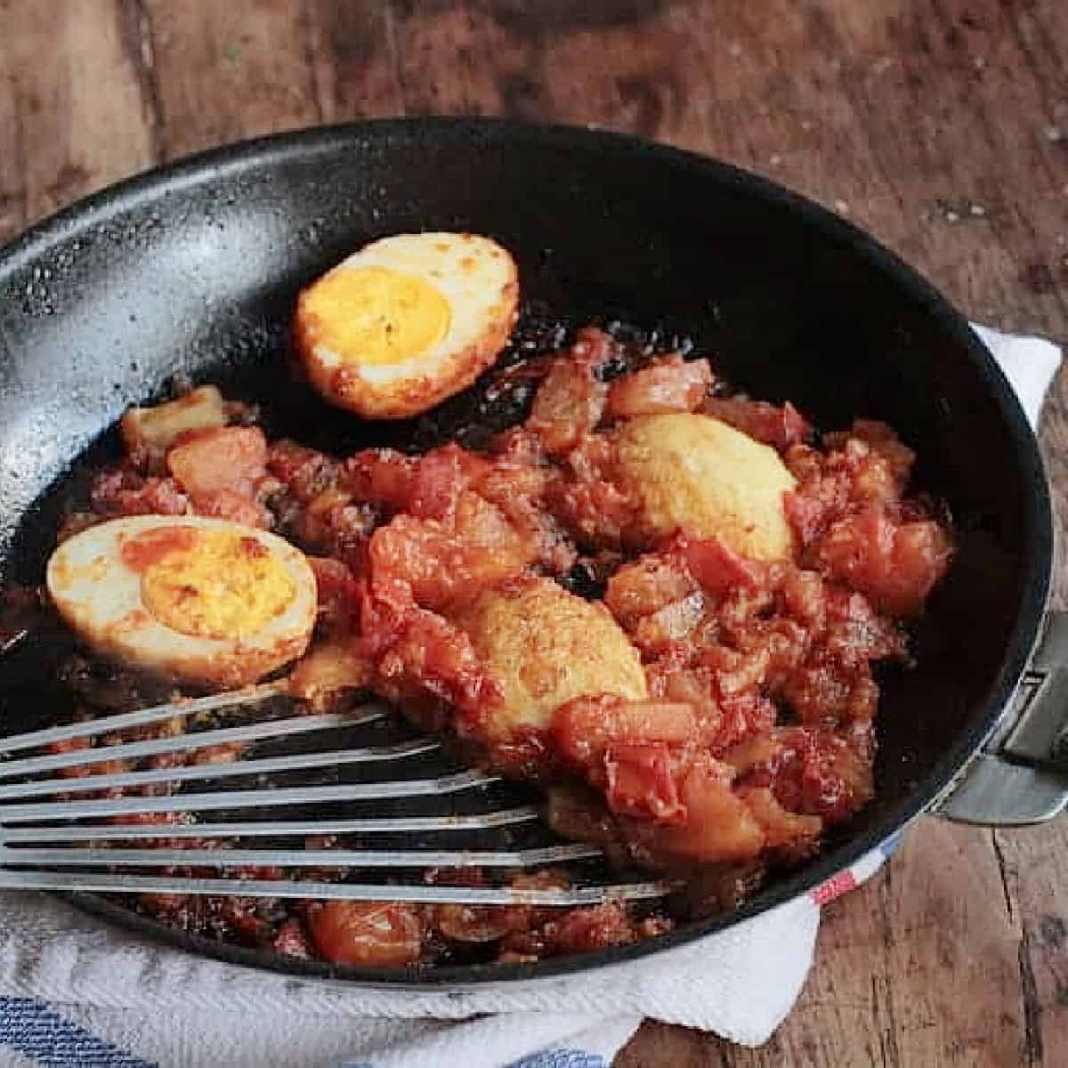
[{"label": "sauce-smeared yellow yolk of the left egg half above the spatula", "polygon": [[[297,587],[254,537],[193,528],[141,574],[141,599],[164,626],[198,638],[244,638],[288,607]],[[187,539],[188,540],[188,539]]]}]

